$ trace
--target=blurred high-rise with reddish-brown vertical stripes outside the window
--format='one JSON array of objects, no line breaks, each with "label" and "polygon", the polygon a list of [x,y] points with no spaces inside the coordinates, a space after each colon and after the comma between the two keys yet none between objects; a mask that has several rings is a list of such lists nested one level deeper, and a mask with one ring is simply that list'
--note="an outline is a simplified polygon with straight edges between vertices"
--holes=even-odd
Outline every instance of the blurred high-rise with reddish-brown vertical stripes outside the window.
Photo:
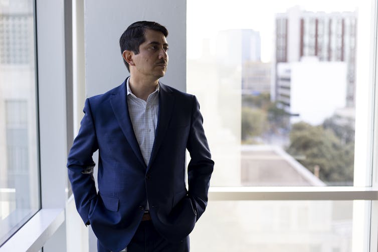
[{"label": "blurred high-rise with reddish-brown vertical stripes outside the window", "polygon": [[[346,107],[355,106],[356,12],[306,12],[299,7],[276,15],[274,71],[279,63],[317,57],[320,62],[346,63]],[[275,74],[271,94],[280,101],[282,88]]]}]

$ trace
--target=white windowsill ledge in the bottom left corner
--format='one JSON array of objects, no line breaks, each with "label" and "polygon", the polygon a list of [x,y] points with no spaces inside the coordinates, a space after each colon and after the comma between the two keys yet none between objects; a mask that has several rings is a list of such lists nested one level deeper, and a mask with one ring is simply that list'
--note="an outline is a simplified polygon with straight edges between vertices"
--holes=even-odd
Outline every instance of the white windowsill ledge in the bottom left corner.
[{"label": "white windowsill ledge in the bottom left corner", "polygon": [[0,247],[0,252],[38,251],[63,222],[63,208],[41,209]]}]

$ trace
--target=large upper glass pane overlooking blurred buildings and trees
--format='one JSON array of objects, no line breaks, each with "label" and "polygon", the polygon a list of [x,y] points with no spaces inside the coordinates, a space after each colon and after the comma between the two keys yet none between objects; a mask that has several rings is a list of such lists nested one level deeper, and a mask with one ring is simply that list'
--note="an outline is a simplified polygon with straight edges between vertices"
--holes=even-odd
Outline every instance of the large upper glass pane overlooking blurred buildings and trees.
[{"label": "large upper glass pane overlooking blurred buildings and trees", "polygon": [[353,185],[370,4],[187,2],[187,92],[201,104],[212,186]]}]

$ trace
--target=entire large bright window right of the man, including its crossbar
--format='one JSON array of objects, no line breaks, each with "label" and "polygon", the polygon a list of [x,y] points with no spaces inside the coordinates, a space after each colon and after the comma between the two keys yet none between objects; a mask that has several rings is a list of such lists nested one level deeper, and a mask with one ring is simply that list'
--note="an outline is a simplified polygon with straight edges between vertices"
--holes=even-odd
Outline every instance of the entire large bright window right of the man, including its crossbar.
[{"label": "entire large bright window right of the man, including its crossbar", "polygon": [[187,2],[187,92],[216,163],[196,251],[374,251],[375,9]]}]

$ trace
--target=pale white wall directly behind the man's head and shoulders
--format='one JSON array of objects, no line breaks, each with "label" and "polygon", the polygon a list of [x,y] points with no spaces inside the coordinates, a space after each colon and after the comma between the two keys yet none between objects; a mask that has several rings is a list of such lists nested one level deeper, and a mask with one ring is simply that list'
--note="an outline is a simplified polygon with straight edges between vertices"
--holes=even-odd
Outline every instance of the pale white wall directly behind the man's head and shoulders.
[{"label": "pale white wall directly behind the man's head and shoulders", "polygon": [[136,21],[155,21],[168,29],[169,63],[164,84],[185,91],[186,1],[84,2],[85,73],[87,97],[121,84],[129,75],[123,64],[119,38]]}]

